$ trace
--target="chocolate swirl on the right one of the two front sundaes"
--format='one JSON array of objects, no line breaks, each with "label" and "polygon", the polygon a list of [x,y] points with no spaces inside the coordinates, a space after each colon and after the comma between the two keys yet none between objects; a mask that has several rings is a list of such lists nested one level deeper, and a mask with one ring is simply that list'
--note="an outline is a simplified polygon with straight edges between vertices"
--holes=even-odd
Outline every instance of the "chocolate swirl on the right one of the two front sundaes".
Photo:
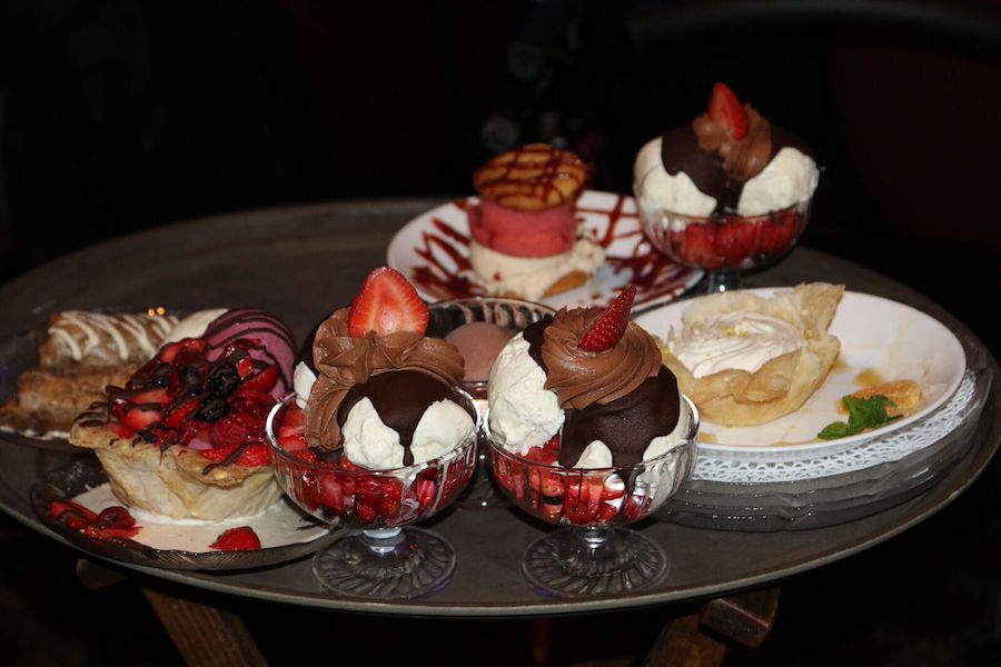
[{"label": "chocolate swirl on the right one of the two front sundaes", "polygon": [[632,392],[661,369],[657,344],[634,322],[609,350],[586,352],[578,348],[577,342],[602,312],[602,308],[564,308],[546,327],[542,346],[548,372],[546,389],[556,392],[564,409],[608,404]]}]

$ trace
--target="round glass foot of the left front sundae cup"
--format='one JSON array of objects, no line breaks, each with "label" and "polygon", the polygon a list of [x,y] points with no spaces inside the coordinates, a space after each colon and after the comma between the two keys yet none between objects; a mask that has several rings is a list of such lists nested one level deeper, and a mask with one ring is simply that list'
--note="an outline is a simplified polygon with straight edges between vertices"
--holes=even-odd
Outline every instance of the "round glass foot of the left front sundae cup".
[{"label": "round glass foot of the left front sundae cup", "polygon": [[455,550],[429,530],[384,528],[346,535],[313,558],[313,574],[334,594],[406,600],[438,590],[455,570]]}]

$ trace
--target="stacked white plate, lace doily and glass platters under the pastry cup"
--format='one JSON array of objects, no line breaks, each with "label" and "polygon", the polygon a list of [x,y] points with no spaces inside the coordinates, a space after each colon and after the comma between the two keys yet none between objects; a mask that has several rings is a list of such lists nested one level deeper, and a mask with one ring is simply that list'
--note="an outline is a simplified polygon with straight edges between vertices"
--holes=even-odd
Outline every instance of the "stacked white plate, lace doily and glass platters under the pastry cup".
[{"label": "stacked white plate, lace doily and glass platters under the pastry cup", "polygon": [[[672,305],[637,320],[666,338],[682,310]],[[830,331],[842,344],[839,362],[800,410],[756,427],[703,420],[695,471],[661,518],[737,530],[844,522],[926,490],[962,458],[992,381],[974,339],[904,303],[853,291]],[[836,401],[861,378],[918,378],[923,404],[876,429],[816,438],[844,420]]]}]

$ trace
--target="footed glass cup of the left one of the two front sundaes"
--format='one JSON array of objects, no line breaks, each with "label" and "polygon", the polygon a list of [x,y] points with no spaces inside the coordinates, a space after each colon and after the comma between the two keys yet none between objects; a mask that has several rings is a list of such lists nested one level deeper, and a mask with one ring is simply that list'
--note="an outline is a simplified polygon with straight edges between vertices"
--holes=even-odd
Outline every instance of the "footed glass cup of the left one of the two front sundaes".
[{"label": "footed glass cup of the left one of the two front sundaes", "polygon": [[[307,460],[279,444],[277,434],[291,409],[298,408],[289,397],[271,409],[266,424],[278,486],[307,514],[347,529],[313,558],[320,584],[337,595],[378,600],[416,598],[445,586],[455,569],[455,550],[412,524],[430,518],[462,494],[476,468],[477,437],[414,466],[346,469]],[[478,421],[477,411],[477,432]]]}]

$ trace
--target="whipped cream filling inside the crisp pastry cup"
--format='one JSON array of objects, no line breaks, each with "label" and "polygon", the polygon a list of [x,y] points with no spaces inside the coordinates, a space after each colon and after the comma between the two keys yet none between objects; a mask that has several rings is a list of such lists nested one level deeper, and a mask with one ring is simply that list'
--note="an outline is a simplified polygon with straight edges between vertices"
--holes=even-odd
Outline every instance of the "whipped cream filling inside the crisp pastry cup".
[{"label": "whipped cream filling inside the crisp pastry cup", "polygon": [[793,325],[755,312],[707,319],[667,342],[667,348],[696,378],[721,370],[755,372],[782,355],[806,345]]}]

